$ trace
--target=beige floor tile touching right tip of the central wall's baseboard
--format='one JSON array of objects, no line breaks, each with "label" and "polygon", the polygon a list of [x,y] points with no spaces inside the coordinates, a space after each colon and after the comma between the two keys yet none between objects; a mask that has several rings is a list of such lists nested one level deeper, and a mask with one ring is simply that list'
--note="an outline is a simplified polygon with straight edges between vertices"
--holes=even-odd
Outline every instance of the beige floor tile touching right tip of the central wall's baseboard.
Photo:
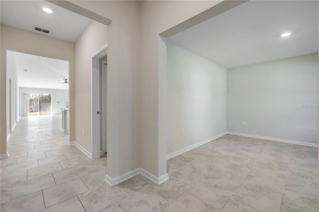
[{"label": "beige floor tile touching right tip of the central wall's baseboard", "polygon": [[162,198],[168,202],[177,200],[182,194],[191,188],[190,185],[180,182],[177,179],[170,178],[160,185],[151,184],[149,185],[153,191],[158,193]]}]

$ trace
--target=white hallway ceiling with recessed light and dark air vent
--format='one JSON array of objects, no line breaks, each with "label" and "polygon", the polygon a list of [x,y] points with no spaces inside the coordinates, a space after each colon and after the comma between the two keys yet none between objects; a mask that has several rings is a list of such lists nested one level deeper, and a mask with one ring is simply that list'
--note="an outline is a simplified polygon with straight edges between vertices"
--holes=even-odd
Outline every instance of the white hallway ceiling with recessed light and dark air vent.
[{"label": "white hallway ceiling with recessed light and dark air vent", "polygon": [[[45,0],[0,0],[1,23],[75,43],[92,22],[77,13]],[[42,10],[48,7],[52,13]],[[49,30],[49,34],[33,29],[37,26]]]}]

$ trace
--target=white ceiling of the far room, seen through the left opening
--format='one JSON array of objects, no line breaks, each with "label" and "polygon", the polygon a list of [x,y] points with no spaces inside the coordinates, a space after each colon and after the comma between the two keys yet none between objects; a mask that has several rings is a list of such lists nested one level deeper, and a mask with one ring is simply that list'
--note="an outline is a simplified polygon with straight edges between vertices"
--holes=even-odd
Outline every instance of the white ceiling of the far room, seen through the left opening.
[{"label": "white ceiling of the far room, seen through the left opening", "polygon": [[[14,61],[19,87],[68,90],[58,84],[69,78],[69,62],[47,57],[7,51],[8,61]],[[25,72],[24,70],[27,70]]]}]

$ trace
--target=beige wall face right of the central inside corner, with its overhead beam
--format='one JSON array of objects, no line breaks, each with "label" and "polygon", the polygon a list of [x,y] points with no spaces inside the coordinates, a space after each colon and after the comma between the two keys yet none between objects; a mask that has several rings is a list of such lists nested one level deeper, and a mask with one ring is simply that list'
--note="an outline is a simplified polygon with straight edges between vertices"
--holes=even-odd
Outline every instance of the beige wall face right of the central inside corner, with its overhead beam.
[{"label": "beige wall face right of the central inside corner, with its overhead beam", "polygon": [[[142,1],[141,7],[141,167],[156,176],[166,173],[166,139],[159,139],[159,119],[165,114],[159,106],[161,71],[166,65],[159,63],[160,48],[165,51],[159,34],[216,5],[220,1]],[[164,66],[159,70],[159,66]],[[165,76],[163,76],[165,80]],[[165,88],[162,88],[165,90]],[[165,99],[165,98],[164,98]],[[163,123],[165,125],[165,123]]]}]

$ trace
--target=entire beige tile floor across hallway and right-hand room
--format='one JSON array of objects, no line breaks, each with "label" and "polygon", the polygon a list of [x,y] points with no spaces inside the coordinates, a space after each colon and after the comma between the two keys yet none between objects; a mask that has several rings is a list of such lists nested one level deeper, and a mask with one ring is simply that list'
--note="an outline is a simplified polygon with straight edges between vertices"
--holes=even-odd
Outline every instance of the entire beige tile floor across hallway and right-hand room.
[{"label": "entire beige tile floor across hallway and right-hand room", "polygon": [[224,135],[167,161],[160,186],[104,182],[106,160],[68,146],[61,116],[20,118],[0,160],[1,212],[318,211],[318,150]]}]

